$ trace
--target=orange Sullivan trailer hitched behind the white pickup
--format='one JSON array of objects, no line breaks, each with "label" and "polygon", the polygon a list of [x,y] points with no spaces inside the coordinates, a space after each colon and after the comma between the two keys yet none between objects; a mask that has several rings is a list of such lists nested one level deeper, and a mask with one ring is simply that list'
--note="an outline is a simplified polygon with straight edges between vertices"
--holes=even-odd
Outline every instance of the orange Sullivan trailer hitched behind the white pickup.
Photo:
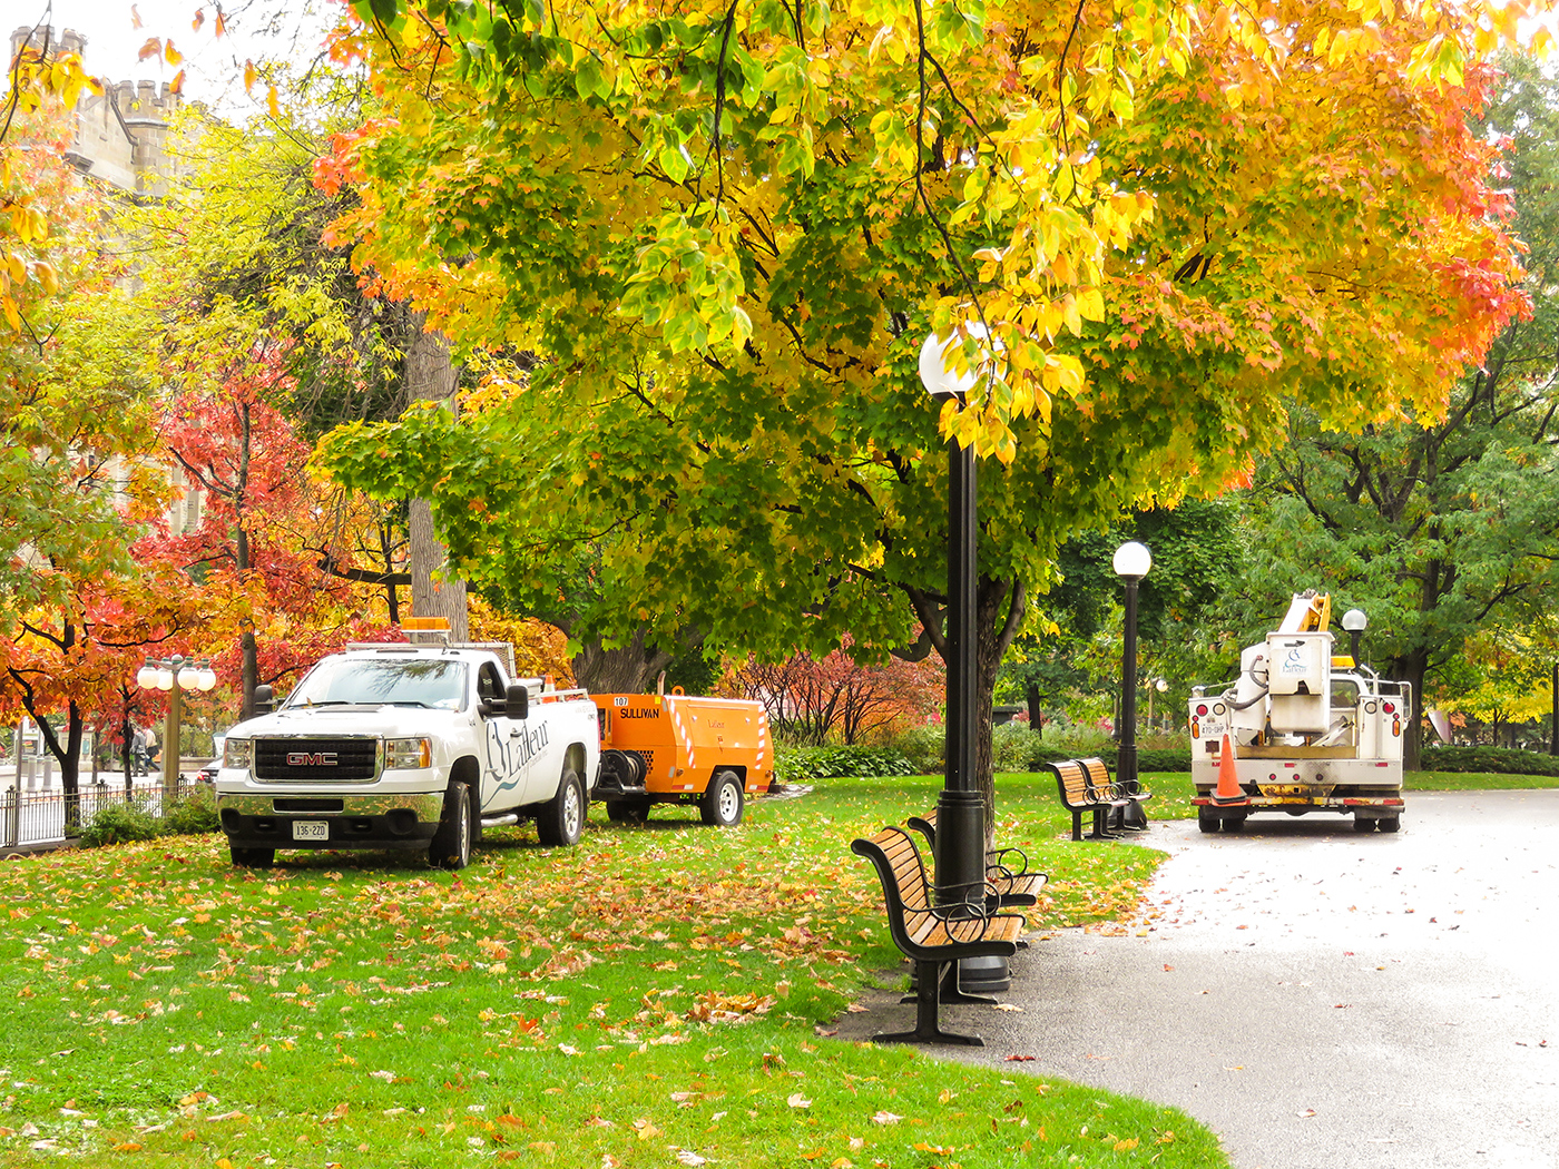
[{"label": "orange Sullivan trailer hitched behind the white pickup", "polygon": [[653,804],[698,804],[706,825],[739,823],[747,795],[769,792],[773,743],[762,703],[670,694],[592,694],[600,709],[596,798],[617,823]]}]

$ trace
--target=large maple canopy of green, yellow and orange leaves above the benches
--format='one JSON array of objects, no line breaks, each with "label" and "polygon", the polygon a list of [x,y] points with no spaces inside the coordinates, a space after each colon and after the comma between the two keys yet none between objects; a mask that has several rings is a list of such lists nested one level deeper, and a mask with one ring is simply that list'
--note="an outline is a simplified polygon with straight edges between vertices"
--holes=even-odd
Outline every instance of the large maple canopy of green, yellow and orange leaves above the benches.
[{"label": "large maple canopy of green, yellow and orange leaves above the benches", "polygon": [[[1433,411],[1523,307],[1465,125],[1518,6],[360,11],[385,117],[321,167],[338,229],[544,363],[327,464],[427,493],[479,583],[588,574],[597,630],[942,648],[953,436],[993,455],[988,705],[1071,533],[1241,480],[1285,393]],[[971,320],[939,411],[917,352]]]}]

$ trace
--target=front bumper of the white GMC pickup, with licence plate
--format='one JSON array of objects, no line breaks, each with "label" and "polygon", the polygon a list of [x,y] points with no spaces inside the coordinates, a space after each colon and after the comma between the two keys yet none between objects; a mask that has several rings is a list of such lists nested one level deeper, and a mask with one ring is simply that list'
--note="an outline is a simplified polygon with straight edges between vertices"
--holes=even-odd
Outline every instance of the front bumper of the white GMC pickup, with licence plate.
[{"label": "front bumper of the white GMC pickup, with licence plate", "polygon": [[443,807],[443,793],[217,796],[235,848],[426,848]]}]

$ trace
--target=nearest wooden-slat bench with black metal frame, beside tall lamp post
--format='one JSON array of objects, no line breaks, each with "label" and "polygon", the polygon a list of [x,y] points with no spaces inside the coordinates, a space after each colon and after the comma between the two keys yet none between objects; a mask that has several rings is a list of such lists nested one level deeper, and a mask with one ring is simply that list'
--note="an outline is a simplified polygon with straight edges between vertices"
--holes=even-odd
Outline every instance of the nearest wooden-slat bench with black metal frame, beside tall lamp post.
[{"label": "nearest wooden-slat bench with black metal frame, beside tall lamp post", "polygon": [[1026,921],[1016,913],[992,913],[985,898],[956,904],[934,904],[926,867],[915,839],[903,828],[884,828],[871,839],[857,839],[850,851],[873,864],[882,882],[887,924],[893,943],[915,963],[915,1029],[873,1037],[878,1043],[957,1043],[982,1047],[976,1035],[942,1030],[937,1008],[942,1001],[987,1002],[995,999],[953,994],[943,990],[943,969],[956,987],[956,963],[963,959],[1010,959],[1018,951],[1018,935]]}]

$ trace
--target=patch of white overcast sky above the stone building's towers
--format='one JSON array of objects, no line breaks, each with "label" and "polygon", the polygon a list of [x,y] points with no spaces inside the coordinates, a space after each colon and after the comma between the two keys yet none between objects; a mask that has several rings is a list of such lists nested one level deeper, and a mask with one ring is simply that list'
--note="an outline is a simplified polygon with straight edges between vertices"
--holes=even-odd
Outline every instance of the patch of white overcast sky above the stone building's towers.
[{"label": "patch of white overcast sky above the stone building's towers", "polygon": [[[140,16],[140,28],[131,12]],[[200,31],[192,26],[204,9]],[[171,81],[186,70],[184,97],[212,106],[243,104],[243,62],[285,59],[306,65],[323,44],[324,30],[340,12],[338,0],[231,0],[223,3],[226,34],[215,37],[215,3],[200,0],[6,0],[5,34],[22,25],[48,22],[55,31],[73,28],[86,37],[84,64],[109,81]],[[171,39],[181,65],[137,61],[148,37]],[[265,94],[256,86],[257,101]]]}]

